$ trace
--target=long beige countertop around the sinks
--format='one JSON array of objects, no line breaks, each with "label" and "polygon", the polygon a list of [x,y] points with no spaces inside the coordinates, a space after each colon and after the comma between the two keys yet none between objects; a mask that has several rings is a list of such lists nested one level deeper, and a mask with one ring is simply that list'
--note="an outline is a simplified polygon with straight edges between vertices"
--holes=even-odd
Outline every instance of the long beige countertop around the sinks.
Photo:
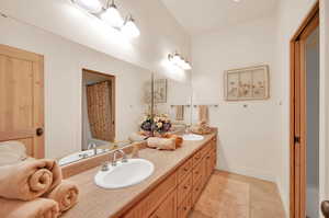
[{"label": "long beige countertop around the sinks", "polygon": [[125,188],[104,190],[97,186],[93,177],[100,168],[84,171],[69,177],[80,190],[79,203],[63,215],[64,218],[110,218],[120,215],[124,208],[135,204],[147,191],[155,187],[169,175],[188,157],[211,140],[215,134],[205,136],[201,141],[184,141],[182,148],[175,151],[159,151],[143,149],[139,158],[151,161],[155,172],[144,182]]}]

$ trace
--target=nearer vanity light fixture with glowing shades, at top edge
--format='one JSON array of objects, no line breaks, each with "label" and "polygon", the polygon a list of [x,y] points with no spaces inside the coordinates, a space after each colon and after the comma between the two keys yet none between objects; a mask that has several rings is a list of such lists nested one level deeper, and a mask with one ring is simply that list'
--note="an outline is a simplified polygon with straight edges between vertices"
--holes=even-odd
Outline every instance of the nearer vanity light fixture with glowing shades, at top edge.
[{"label": "nearer vanity light fixture with glowing shades, at top edge", "polygon": [[70,0],[72,3],[79,8],[86,10],[91,15],[100,19],[104,23],[109,24],[111,27],[120,31],[127,37],[138,37],[140,31],[136,25],[135,20],[132,15],[128,15],[125,20],[121,15],[114,0],[107,0],[106,7],[101,2],[101,0]]}]

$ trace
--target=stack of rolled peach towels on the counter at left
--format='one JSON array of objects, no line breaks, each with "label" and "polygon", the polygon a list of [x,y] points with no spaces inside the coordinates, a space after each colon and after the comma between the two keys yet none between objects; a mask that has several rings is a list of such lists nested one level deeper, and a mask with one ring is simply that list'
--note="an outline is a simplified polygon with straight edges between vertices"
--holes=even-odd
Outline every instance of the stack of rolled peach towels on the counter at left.
[{"label": "stack of rolled peach towels on the counter at left", "polygon": [[29,159],[0,167],[1,218],[57,218],[78,200],[55,160]]}]

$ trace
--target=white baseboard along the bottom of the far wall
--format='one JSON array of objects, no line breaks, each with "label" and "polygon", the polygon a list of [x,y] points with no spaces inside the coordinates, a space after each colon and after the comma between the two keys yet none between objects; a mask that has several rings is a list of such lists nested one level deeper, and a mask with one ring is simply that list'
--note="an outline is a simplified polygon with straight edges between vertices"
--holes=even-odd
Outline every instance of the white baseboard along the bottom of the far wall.
[{"label": "white baseboard along the bottom of the far wall", "polygon": [[256,177],[259,180],[265,180],[269,182],[273,182],[276,183],[276,176],[271,174],[271,173],[266,173],[266,172],[261,172],[259,170],[256,169],[250,169],[250,168],[241,168],[241,167],[229,167],[227,169],[223,169],[223,168],[216,168],[217,170],[223,170],[223,171],[227,171],[227,172],[231,172],[231,173],[236,173],[239,175],[246,175],[249,177]]}]

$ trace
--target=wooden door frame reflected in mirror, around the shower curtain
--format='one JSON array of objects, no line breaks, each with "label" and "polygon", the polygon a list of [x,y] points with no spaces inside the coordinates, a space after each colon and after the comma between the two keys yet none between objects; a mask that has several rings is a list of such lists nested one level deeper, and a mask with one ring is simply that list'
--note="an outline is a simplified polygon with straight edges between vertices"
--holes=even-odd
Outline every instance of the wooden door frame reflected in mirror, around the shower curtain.
[{"label": "wooden door frame reflected in mirror, around the shower curtain", "polygon": [[[109,74],[109,73],[104,73],[104,72],[99,72],[99,71],[94,71],[94,70],[89,70],[89,69],[86,69],[86,68],[82,68],[82,78],[83,78],[83,73],[84,72],[89,72],[89,73],[94,73],[94,74],[99,74],[99,76],[102,76],[102,77],[105,77],[105,78],[107,78],[109,80],[111,80],[111,97],[112,97],[112,100],[113,100],[113,102],[114,102],[114,104],[112,104],[112,121],[111,121],[111,123],[112,123],[112,128],[113,128],[113,136],[112,136],[112,142],[114,142],[115,141],[115,137],[116,137],[116,99],[115,99],[115,90],[116,90],[116,78],[115,78],[115,76],[114,74]],[[81,95],[81,100],[82,100],[82,95]],[[83,104],[83,100],[81,101],[81,103]],[[81,105],[82,107],[83,107],[83,105]],[[81,107],[81,108],[82,108]],[[83,121],[83,115],[82,115],[82,119],[81,121]],[[83,131],[83,124],[81,125],[81,130]],[[81,131],[81,133],[82,133]]]}]

